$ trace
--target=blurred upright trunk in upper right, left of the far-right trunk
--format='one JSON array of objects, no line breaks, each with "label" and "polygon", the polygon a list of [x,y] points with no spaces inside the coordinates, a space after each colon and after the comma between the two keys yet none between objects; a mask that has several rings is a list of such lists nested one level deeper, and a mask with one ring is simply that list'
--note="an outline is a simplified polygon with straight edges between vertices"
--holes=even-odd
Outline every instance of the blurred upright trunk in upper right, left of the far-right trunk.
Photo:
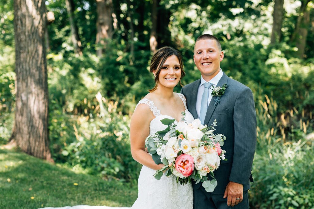
[{"label": "blurred upright trunk in upper right, left of the far-right trunk", "polygon": [[280,41],[283,16],[284,16],[284,0],[275,0],[273,11],[273,30],[270,39],[271,44]]}]

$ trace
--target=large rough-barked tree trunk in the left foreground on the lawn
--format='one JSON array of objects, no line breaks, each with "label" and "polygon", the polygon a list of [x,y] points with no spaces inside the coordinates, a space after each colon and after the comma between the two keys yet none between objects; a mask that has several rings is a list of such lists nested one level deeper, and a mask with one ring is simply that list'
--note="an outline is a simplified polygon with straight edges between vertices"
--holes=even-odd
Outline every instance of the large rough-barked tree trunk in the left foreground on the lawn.
[{"label": "large rough-barked tree trunk in the left foreground on the lawn", "polygon": [[51,160],[44,0],[14,0],[16,111],[11,139],[27,154]]}]

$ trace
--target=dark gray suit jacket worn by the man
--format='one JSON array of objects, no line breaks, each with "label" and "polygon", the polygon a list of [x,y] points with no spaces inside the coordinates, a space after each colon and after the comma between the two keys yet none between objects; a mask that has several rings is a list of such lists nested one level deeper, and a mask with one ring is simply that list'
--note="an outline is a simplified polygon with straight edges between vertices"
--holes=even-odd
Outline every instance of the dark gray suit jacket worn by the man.
[{"label": "dark gray suit jacket worn by the man", "polygon": [[[201,79],[190,83],[181,89],[181,93],[187,98],[187,108],[194,118],[198,118],[196,112],[196,100]],[[224,194],[229,181],[243,184],[243,191],[250,189],[252,181],[251,168],[256,147],[256,110],[253,94],[250,88],[240,82],[229,78],[225,73],[217,86],[227,83],[229,87],[220,98],[220,102],[214,106],[213,97],[208,105],[204,124],[212,124],[217,120],[214,133],[222,133],[226,140],[222,149],[226,150],[226,159],[214,171],[218,185],[213,194]],[[193,189],[198,189],[192,181]]]}]

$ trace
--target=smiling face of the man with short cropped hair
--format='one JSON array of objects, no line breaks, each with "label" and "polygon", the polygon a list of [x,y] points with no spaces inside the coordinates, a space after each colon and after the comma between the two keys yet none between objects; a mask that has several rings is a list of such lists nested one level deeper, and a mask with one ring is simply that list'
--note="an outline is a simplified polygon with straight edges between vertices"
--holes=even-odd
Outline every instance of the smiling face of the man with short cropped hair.
[{"label": "smiling face of the man with short cropped hair", "polygon": [[193,59],[203,79],[210,81],[219,73],[224,53],[219,50],[216,40],[203,39],[195,43]]}]

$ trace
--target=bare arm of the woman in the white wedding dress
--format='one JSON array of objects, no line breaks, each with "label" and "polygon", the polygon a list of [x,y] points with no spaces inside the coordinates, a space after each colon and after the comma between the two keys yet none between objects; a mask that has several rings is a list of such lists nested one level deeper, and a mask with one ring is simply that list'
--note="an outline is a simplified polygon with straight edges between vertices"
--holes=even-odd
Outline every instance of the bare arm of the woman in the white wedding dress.
[{"label": "bare arm of the woman in the white wedding dress", "polygon": [[138,105],[131,118],[131,153],[133,159],[140,164],[154,170],[159,170],[164,165],[156,165],[152,156],[145,152],[145,139],[149,135],[149,124],[152,119],[154,119],[154,115],[149,109],[149,106],[145,104]]}]

